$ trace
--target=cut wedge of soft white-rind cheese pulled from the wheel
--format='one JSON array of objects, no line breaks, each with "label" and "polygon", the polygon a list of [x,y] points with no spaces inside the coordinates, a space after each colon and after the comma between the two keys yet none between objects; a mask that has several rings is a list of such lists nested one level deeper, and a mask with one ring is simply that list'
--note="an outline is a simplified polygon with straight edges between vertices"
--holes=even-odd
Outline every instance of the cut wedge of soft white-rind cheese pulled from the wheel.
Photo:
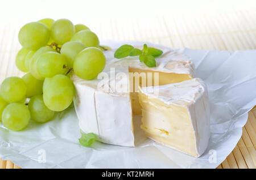
[{"label": "cut wedge of soft white-rind cheese pulled from the wheel", "polygon": [[141,88],[142,129],[146,136],[188,155],[199,157],[210,137],[208,92],[198,78]]}]

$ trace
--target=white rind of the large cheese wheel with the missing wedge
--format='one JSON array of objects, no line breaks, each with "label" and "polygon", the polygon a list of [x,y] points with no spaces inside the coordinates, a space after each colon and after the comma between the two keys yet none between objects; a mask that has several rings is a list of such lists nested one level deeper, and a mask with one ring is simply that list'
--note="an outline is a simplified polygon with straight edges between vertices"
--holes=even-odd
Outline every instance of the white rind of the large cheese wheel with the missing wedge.
[{"label": "white rind of the large cheese wheel with the missing wedge", "polygon": [[[142,49],[142,46],[135,48]],[[139,61],[138,57],[116,59],[114,58],[115,50],[105,51],[106,66],[102,72],[110,77],[112,72],[110,68],[115,68],[115,75],[118,72],[122,72],[128,76],[129,68],[140,68],[143,70],[188,74],[193,78],[195,67],[190,58],[168,48],[162,48],[161,50],[163,55],[156,58],[156,67],[147,67]],[[109,78],[108,91],[98,86],[102,82],[101,79],[83,80],[73,75],[72,80],[77,92],[74,102],[80,129],[85,133],[93,132],[98,135],[103,143],[134,147],[130,93],[127,91],[117,92],[110,85],[115,81],[115,83],[121,82],[123,85],[128,86],[129,78],[122,80]]]}]

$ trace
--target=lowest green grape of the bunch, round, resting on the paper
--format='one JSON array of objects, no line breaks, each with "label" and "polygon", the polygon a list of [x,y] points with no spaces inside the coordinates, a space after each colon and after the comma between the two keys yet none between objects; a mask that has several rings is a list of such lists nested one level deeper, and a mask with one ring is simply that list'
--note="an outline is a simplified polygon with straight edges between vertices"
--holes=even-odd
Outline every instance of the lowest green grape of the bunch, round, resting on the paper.
[{"label": "lowest green grape of the bunch, round, resting on the paper", "polygon": [[27,106],[14,102],[6,106],[2,114],[3,126],[12,131],[20,131],[27,127],[30,121],[30,111]]}]

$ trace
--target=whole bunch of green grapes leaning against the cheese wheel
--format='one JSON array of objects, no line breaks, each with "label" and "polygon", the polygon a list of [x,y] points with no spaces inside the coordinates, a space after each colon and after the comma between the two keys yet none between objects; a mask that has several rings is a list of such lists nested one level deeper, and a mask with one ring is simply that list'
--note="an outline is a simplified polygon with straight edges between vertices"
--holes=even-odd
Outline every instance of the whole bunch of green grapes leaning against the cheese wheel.
[{"label": "whole bunch of green grapes leaning against the cheese wheel", "polygon": [[30,119],[44,123],[66,110],[75,95],[70,77],[95,79],[105,67],[104,51],[110,50],[87,26],[68,19],[27,23],[18,39],[16,67],[27,74],[0,85],[0,121],[13,131],[26,128]]}]

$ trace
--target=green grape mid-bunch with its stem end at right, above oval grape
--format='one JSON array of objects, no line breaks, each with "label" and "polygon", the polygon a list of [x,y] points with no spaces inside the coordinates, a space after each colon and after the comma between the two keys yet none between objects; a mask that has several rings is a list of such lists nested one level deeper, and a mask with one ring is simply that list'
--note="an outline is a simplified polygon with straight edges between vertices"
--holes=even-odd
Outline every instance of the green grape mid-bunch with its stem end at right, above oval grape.
[{"label": "green grape mid-bunch with its stem end at right, above oval grape", "polygon": [[48,52],[40,55],[36,67],[40,76],[51,78],[57,74],[65,74],[68,62],[64,55],[55,52]]}]

